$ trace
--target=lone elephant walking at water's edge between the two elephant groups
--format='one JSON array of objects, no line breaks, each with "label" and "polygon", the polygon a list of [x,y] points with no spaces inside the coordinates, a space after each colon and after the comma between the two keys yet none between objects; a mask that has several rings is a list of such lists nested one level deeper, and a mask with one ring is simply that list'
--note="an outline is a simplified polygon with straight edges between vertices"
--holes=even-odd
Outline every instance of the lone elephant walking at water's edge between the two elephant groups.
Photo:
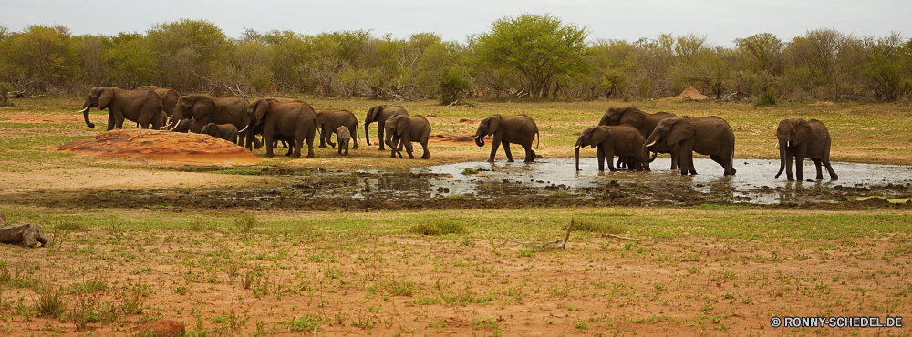
[{"label": "lone elephant walking at water's edge between the two elephant groups", "polygon": [[[538,136],[538,143],[542,142],[541,135],[538,134],[538,126],[532,117],[525,115],[501,116],[492,115],[482,119],[478,123],[478,129],[475,131],[475,145],[479,148],[484,146],[484,137],[494,135],[491,144],[491,156],[488,162],[494,162],[494,155],[497,154],[497,147],[503,143],[503,152],[507,155],[507,161],[513,162],[513,154],[510,153],[510,143],[519,144],[525,149],[526,163],[535,160],[535,151],[532,150],[532,142],[535,136]],[[538,144],[535,145],[538,149]]]}]

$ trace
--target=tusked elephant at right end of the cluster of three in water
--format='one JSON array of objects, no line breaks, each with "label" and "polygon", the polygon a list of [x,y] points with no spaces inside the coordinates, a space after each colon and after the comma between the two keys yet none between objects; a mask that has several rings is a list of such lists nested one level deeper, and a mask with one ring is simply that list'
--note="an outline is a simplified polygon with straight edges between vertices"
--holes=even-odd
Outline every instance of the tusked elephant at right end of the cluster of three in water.
[{"label": "tusked elephant at right end of the cluster of three in water", "polygon": [[725,175],[735,174],[731,167],[735,151],[735,134],[724,119],[710,117],[674,117],[662,119],[646,139],[646,147],[678,146],[678,164],[682,176],[697,174],[693,152],[710,158],[724,168]]}]

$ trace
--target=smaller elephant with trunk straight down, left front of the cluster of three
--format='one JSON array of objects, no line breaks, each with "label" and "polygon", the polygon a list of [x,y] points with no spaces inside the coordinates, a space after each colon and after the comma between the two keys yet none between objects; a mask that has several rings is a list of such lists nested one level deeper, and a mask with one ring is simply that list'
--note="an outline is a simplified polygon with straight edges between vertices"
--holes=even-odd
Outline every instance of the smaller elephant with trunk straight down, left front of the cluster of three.
[{"label": "smaller elephant with trunk straight down, left front of the cluster of three", "polygon": [[576,170],[579,170],[579,148],[587,145],[598,147],[599,172],[605,171],[605,161],[608,162],[608,169],[616,171],[612,164],[615,156],[628,158],[627,165],[631,169],[649,170],[648,152],[643,146],[645,141],[637,128],[627,125],[586,128],[576,138]]}]

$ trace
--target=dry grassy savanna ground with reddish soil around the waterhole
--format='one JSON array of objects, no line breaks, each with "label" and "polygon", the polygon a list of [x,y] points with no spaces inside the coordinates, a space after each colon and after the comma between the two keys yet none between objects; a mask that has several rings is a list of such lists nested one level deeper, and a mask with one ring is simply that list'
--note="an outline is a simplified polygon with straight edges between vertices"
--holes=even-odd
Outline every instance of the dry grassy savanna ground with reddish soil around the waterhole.
[{"label": "dry grassy savanna ground with reddish soil around the waterhole", "polygon": [[[359,120],[378,104],[304,99]],[[832,160],[905,168],[907,105],[404,102],[441,134],[428,160],[387,158],[372,126],[375,144],[362,135],[348,157],[316,148],[313,159],[264,158],[262,148],[254,150],[262,162],[241,166],[58,152],[103,131],[75,113],[81,102],[36,97],[0,107],[0,213],[54,240],[0,246],[2,335],[132,336],[162,319],[183,322],[192,336],[903,336],[912,324],[912,202],[852,198],[908,199],[908,185],[803,182],[790,189],[838,198],[766,205],[725,190],[650,194],[650,186],[609,183],[627,172],[600,176],[604,188],[496,199],[346,192],[371,175],[486,160],[490,143],[477,148],[457,136],[498,113],[536,120],[539,160],[572,158],[582,129],[627,105],[723,117],[736,158],[778,159],[778,122],[817,118],[832,135]],[[91,119],[102,127],[107,111]],[[513,154],[522,160],[518,146]],[[594,150],[586,156],[594,160]],[[495,159],[505,160],[503,151]],[[721,168],[700,174],[721,176]],[[325,189],[337,195],[319,197]],[[643,195],[648,202],[637,201]],[[571,220],[563,249],[523,244],[564,239]],[[785,316],[903,317],[904,327],[771,326]]]}]

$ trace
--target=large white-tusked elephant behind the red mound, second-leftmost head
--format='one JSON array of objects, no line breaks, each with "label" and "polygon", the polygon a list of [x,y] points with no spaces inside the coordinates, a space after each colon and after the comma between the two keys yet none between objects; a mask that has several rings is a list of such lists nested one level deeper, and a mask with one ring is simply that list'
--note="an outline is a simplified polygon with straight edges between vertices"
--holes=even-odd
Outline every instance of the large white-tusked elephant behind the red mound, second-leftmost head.
[{"label": "large white-tusked elephant behind the red mound, second-leftmost head", "polygon": [[[244,97],[210,97],[207,95],[186,95],[181,96],[174,106],[174,113],[171,114],[171,125],[179,123],[181,119],[193,118],[193,133],[200,133],[202,127],[209,124],[232,124],[234,128],[244,129],[251,124],[251,115],[247,111],[250,107]],[[238,134],[239,145],[244,144],[248,132]],[[250,139],[259,143],[258,140]]]}]

